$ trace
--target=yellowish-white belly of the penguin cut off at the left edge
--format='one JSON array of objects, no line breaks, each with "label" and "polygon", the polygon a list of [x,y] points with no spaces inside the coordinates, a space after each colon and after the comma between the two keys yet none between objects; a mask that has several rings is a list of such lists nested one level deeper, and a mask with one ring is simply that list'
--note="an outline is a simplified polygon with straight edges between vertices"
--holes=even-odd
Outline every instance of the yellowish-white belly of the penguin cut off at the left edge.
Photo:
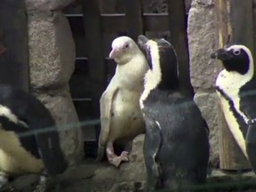
[{"label": "yellowish-white belly of the penguin cut off at the left edge", "polygon": [[20,146],[13,132],[0,129],[0,171],[7,174],[38,173],[44,169],[40,159]]}]

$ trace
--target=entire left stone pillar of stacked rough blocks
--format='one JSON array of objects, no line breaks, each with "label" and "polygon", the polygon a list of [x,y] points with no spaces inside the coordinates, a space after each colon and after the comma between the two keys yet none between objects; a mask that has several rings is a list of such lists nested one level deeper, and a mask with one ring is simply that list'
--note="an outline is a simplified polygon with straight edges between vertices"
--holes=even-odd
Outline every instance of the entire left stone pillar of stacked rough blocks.
[{"label": "entire left stone pillar of stacked rough blocks", "polygon": [[[60,129],[78,124],[68,81],[75,68],[76,50],[72,33],[61,9],[72,0],[26,0],[30,89],[49,108]],[[84,152],[80,126],[60,131],[61,147],[69,164]]]}]

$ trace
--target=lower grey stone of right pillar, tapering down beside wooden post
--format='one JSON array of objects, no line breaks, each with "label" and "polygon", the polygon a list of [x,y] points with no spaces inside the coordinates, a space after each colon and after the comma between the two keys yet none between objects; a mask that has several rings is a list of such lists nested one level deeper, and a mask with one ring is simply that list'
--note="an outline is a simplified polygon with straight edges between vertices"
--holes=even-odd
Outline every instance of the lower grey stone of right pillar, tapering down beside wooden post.
[{"label": "lower grey stone of right pillar, tapering down beside wooden post", "polygon": [[196,101],[197,106],[200,108],[210,130],[210,164],[216,168],[220,163],[217,94],[215,92],[196,92],[194,100]]}]

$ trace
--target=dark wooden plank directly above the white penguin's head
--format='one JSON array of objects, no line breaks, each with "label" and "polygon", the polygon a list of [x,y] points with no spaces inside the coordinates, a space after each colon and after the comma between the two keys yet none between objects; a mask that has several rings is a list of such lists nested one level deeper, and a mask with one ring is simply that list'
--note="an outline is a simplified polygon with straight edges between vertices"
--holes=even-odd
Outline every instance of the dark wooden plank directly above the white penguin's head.
[{"label": "dark wooden plank directly above the white penguin's head", "polygon": [[125,19],[127,35],[137,42],[137,36],[143,34],[141,0],[125,0]]}]

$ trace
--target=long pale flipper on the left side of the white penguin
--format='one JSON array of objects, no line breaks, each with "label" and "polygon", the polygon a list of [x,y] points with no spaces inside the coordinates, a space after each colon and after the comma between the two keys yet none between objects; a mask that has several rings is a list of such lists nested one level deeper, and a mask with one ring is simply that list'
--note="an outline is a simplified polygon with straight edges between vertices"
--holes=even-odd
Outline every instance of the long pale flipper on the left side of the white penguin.
[{"label": "long pale flipper on the left side of the white penguin", "polygon": [[[108,85],[108,87],[111,87]],[[104,149],[108,141],[108,134],[111,122],[111,108],[118,88],[107,89],[100,98],[100,137],[98,155],[96,161],[100,161],[104,156]]]}]

